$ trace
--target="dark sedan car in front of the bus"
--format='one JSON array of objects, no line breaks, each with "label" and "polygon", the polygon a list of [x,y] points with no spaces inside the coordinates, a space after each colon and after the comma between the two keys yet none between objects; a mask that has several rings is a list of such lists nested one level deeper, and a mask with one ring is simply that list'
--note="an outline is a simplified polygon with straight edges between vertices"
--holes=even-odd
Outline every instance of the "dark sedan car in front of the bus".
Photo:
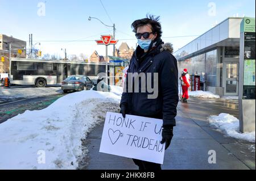
[{"label": "dark sedan car in front of the bus", "polygon": [[66,93],[70,90],[89,90],[93,87],[93,85],[93,81],[91,81],[89,77],[86,77],[85,75],[71,75],[61,83],[61,89]]}]

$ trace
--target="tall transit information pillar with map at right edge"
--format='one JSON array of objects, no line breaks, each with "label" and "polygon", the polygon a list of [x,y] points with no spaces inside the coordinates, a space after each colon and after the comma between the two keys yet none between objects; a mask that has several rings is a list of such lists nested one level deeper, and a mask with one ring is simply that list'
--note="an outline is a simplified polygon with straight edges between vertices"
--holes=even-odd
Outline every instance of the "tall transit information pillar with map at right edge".
[{"label": "tall transit information pillar with map at right edge", "polygon": [[240,132],[255,132],[255,18],[241,22],[239,65]]}]

